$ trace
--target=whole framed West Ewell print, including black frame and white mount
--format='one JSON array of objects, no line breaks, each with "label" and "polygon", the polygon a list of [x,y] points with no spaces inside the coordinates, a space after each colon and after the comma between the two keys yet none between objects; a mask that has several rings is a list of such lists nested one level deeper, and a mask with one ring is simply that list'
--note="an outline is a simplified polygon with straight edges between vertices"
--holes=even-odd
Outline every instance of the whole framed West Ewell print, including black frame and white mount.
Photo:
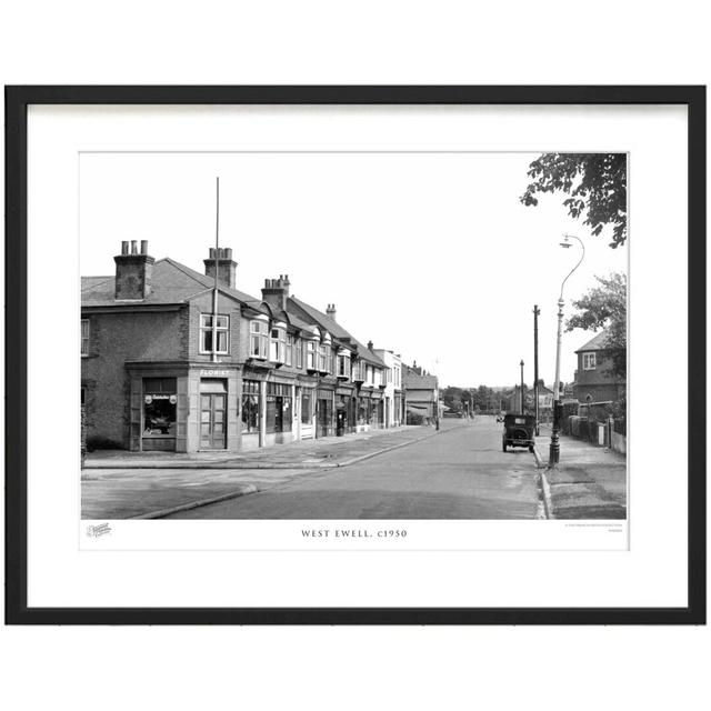
[{"label": "whole framed West Ewell print, including black frame and white mount", "polygon": [[10,623],[705,622],[703,87],[8,87]]}]

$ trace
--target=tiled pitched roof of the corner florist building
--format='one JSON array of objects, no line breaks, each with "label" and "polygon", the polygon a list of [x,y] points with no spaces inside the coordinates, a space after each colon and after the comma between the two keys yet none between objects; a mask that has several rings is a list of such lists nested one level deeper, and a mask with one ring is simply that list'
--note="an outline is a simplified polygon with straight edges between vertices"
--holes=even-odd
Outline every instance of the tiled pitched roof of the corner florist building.
[{"label": "tiled pitched roof of the corner florist building", "polygon": [[[151,274],[151,292],[141,301],[142,304],[186,303],[190,299],[214,287],[211,277],[201,274],[166,257],[153,264]],[[114,299],[116,277],[82,277],[81,302],[83,306],[124,306]],[[260,309],[261,301],[249,294],[219,284],[220,292],[243,303],[251,302],[252,308]]]}]

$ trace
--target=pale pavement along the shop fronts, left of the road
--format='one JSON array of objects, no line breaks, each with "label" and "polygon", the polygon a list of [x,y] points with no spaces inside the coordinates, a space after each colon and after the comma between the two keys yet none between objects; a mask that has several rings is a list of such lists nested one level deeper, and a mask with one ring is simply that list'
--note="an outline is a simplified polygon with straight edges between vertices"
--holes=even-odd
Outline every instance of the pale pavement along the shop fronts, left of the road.
[{"label": "pale pavement along the shop fronts, left of the road", "polygon": [[322,475],[469,424],[445,420],[439,432],[433,427],[393,428],[239,455],[93,452],[81,474],[82,519],[163,518]]}]

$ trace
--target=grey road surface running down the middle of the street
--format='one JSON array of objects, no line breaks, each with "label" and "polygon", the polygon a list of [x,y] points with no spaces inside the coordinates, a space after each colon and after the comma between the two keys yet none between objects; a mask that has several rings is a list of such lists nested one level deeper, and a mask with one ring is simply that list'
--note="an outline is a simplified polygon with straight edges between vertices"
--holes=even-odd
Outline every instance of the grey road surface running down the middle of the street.
[{"label": "grey road surface running down the middle of the street", "polygon": [[480,418],[343,469],[304,472],[269,491],[177,513],[181,519],[533,519],[542,510],[528,450],[501,451]]}]

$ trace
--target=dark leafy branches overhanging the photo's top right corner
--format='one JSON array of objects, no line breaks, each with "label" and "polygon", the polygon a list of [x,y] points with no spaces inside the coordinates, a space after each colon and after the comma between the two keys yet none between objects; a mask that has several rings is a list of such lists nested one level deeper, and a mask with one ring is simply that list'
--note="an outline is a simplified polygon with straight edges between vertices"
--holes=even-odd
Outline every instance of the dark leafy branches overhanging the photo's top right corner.
[{"label": "dark leafy branches overhanging the photo's top right corner", "polygon": [[543,153],[529,166],[532,182],[520,200],[537,206],[542,192],[564,192],[568,213],[590,226],[594,236],[612,227],[613,249],[627,240],[627,154]]}]

